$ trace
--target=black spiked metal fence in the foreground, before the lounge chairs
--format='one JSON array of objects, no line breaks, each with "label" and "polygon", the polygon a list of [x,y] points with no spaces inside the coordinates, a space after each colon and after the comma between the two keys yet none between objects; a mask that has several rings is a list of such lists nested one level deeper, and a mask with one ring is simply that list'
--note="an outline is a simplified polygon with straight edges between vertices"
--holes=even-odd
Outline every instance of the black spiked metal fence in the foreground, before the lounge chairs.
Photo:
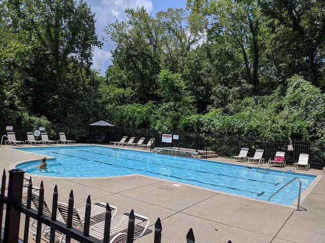
[{"label": "black spiked metal fence in the foreground, before the lounge chairs", "polygon": [[[109,242],[110,239],[110,227],[111,227],[111,208],[107,204],[105,216],[105,230],[103,233],[103,240],[95,238],[89,235],[89,228],[91,226],[91,203],[90,196],[88,196],[85,207],[85,220],[84,220],[84,228],[83,230],[76,229],[73,227],[73,209],[74,209],[74,198],[73,192],[71,191],[69,197],[69,205],[68,205],[68,219],[67,222],[62,222],[58,220],[57,217],[57,208],[58,208],[58,192],[57,187],[55,186],[53,192],[53,200],[52,200],[52,214],[46,215],[44,211],[44,188],[43,182],[41,183],[41,187],[38,190],[38,209],[31,208],[31,200],[32,200],[32,182],[29,179],[28,185],[23,185],[24,180],[24,171],[15,169],[9,171],[9,183],[6,183],[6,173],[2,176],[2,186],[1,186],[1,196],[0,196],[0,223],[3,225],[3,215],[4,210],[6,210],[6,218],[5,218],[5,227],[3,232],[3,242],[8,243],[17,243],[17,242],[31,242],[34,241],[39,243],[41,242],[41,237],[44,234],[49,235],[49,242],[57,241],[57,235],[65,235],[65,242],[70,243],[71,239],[75,239],[81,243],[103,243]],[[27,190],[24,194],[23,188]],[[6,194],[8,196],[6,196]],[[25,200],[22,200],[23,197]],[[22,204],[24,201],[24,204]],[[4,207],[5,206],[5,207]],[[25,215],[24,219],[24,234],[23,236],[19,235],[19,225],[21,218],[21,214]],[[133,210],[128,214],[128,226],[127,230],[125,230],[126,243],[132,243],[134,241],[135,234],[135,214]],[[33,239],[28,239],[29,234],[29,224],[30,220],[37,220],[37,230],[36,237]],[[46,226],[46,227],[44,227]],[[47,227],[48,226],[48,227]],[[46,230],[44,230],[46,229]],[[158,218],[155,223],[154,230],[154,243],[161,242],[161,222]],[[187,243],[194,243],[194,234],[193,230],[190,229],[186,235]],[[228,241],[231,243],[231,241]]]}]

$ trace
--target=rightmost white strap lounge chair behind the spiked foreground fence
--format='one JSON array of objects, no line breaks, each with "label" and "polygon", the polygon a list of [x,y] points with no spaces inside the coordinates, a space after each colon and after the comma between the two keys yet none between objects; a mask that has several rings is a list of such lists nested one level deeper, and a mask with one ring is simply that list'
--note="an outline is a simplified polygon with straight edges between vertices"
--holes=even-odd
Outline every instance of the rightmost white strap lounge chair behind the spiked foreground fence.
[{"label": "rightmost white strap lounge chair behind the spiked foreground fence", "polygon": [[[131,211],[131,213],[133,213],[133,210]],[[118,215],[115,216],[114,218],[111,218],[110,236],[112,238],[110,240],[110,243],[112,243],[120,235],[123,234],[127,235],[129,215],[130,213],[124,213],[122,215]],[[134,216],[135,216],[135,222],[134,222],[135,225],[139,226],[141,223],[146,223],[144,227],[141,227],[142,230],[139,230],[139,233],[134,235],[133,238],[137,239],[146,232],[150,221],[147,217],[140,214],[134,214]],[[94,224],[89,229],[89,235],[92,235],[96,238],[103,240],[104,229],[105,229],[105,221],[102,221],[98,224]]]}]

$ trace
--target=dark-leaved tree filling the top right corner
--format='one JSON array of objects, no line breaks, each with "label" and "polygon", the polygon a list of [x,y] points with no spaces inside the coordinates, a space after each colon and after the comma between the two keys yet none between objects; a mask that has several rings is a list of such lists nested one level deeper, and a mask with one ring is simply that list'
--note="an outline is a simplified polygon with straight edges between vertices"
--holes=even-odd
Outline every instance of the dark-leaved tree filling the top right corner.
[{"label": "dark-leaved tree filling the top right corner", "polygon": [[325,2],[259,1],[268,20],[269,60],[284,81],[300,74],[324,89]]}]

